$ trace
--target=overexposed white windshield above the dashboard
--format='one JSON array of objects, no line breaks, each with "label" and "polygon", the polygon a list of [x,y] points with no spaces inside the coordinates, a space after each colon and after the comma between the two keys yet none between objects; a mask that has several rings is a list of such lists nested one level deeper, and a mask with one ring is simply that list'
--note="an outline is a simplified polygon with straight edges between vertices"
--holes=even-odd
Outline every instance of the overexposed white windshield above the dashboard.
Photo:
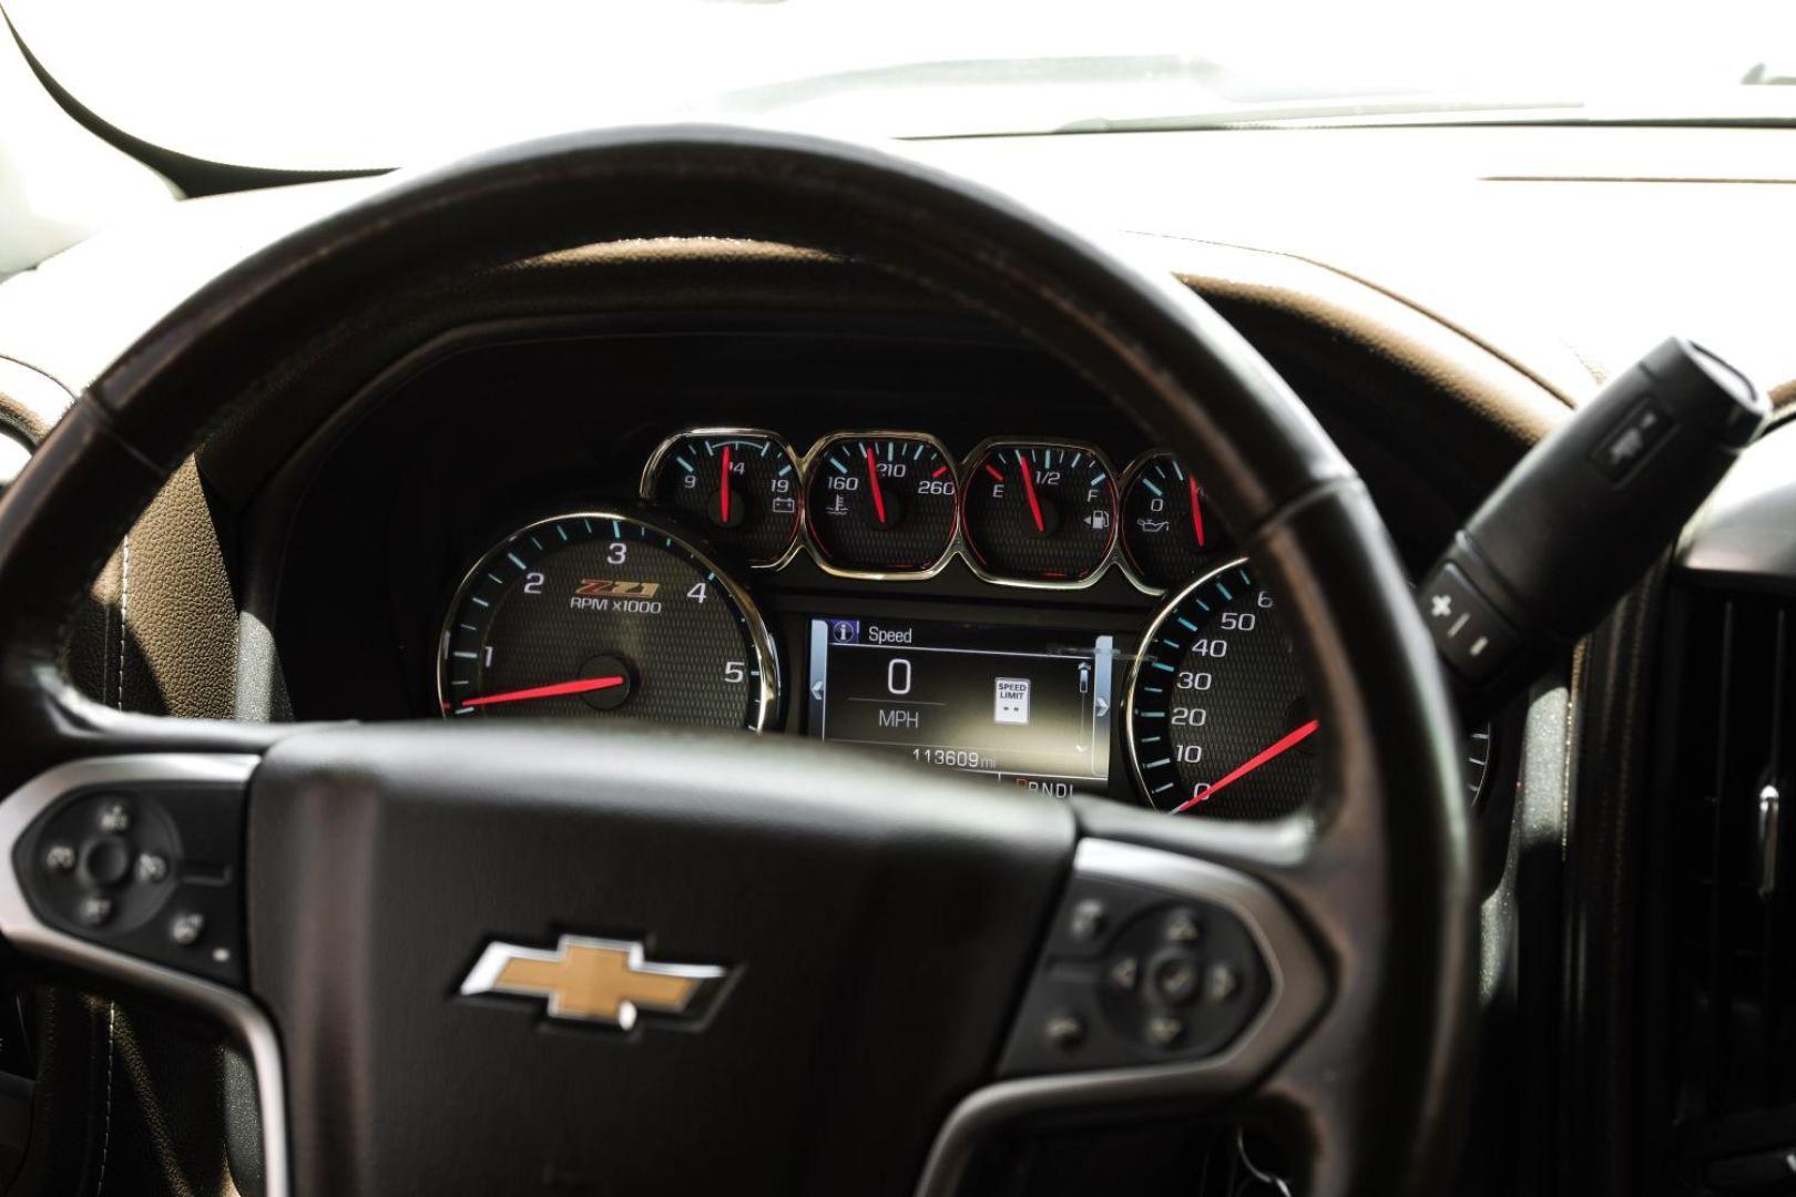
[{"label": "overexposed white windshield above the dashboard", "polygon": [[239,165],[388,167],[569,127],[858,136],[1796,120],[1796,4],[5,0],[79,102]]}]

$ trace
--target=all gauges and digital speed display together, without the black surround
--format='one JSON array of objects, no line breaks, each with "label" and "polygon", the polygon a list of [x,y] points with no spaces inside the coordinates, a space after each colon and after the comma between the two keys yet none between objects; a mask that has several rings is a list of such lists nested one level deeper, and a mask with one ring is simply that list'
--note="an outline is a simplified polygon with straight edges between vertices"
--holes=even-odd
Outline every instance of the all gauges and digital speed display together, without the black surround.
[{"label": "all gauges and digital speed display together, without the black surround", "polygon": [[[1275,598],[1166,450],[1119,474],[1078,440],[1000,436],[957,459],[918,431],[799,454],[765,429],[691,427],[648,454],[638,499],[539,517],[467,569],[438,639],[445,718],[783,730],[1175,815],[1279,818],[1315,795],[1327,729]],[[959,556],[1034,592],[1117,567],[1164,598],[1144,619],[1115,594],[1083,612],[952,607],[769,574],[801,553],[860,580]],[[1476,729],[1475,799],[1489,759]]]}]

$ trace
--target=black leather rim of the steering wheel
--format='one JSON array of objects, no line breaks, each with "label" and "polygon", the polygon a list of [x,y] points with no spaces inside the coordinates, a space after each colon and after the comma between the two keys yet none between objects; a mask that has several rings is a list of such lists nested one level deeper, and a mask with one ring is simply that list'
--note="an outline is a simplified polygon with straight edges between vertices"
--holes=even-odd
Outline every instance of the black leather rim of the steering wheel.
[{"label": "black leather rim of the steering wheel", "polygon": [[287,730],[99,707],[68,684],[61,632],[163,479],[233,415],[233,397],[370,284],[699,235],[851,255],[995,314],[1207,479],[1281,594],[1331,729],[1325,799],[1266,827],[1083,800],[1076,815],[1087,836],[1241,869],[1313,940],[1327,1007],[1255,1088],[1255,1109],[1299,1143],[1307,1192],[1439,1184],[1473,1028],[1467,827],[1433,650],[1363,485],[1187,289],[889,153],[713,126],[557,136],[395,176],[203,287],[95,380],[0,499],[0,790],[77,757],[260,752]]}]

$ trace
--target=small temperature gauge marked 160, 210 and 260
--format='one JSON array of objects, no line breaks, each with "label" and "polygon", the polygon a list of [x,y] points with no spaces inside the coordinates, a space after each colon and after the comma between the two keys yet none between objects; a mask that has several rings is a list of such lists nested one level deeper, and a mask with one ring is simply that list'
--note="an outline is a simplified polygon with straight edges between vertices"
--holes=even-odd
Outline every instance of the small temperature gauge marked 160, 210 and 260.
[{"label": "small temperature gauge marked 160, 210 and 260", "polygon": [[929,578],[959,524],[948,450],[912,432],[837,432],[805,465],[817,562],[848,578]]}]

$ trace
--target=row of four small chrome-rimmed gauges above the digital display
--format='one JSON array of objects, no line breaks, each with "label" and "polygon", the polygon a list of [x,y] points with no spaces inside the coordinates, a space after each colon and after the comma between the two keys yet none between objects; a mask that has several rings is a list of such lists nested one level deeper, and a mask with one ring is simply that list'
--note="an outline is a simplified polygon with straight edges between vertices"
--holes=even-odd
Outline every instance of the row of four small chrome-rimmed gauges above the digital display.
[{"label": "row of four small chrome-rimmed gauges above the digital display", "polygon": [[839,578],[932,578],[959,556],[997,585],[1072,590],[1115,565],[1164,594],[1236,556],[1173,454],[1119,474],[1072,440],[993,438],[955,459],[925,432],[850,431],[801,456],[765,429],[688,429],[648,458],[641,497],[754,569],[803,551]]}]

